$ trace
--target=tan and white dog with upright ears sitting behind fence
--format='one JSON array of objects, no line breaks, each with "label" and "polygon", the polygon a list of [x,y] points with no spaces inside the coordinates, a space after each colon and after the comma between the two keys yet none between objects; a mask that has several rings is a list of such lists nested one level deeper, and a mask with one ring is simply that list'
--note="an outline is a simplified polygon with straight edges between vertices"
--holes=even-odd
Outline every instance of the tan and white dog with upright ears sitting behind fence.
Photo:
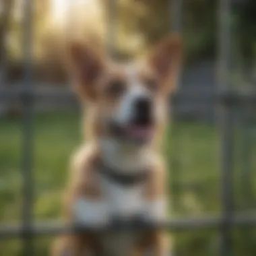
[{"label": "tan and white dog with upright ears sitting behind fence", "polygon": [[75,92],[87,104],[87,139],[71,161],[65,216],[96,231],[58,238],[53,255],[170,255],[164,230],[100,232],[99,227],[166,219],[168,170],[160,146],[169,95],[181,71],[180,36],[167,36],[133,62],[115,62],[80,42],[71,42],[68,56]]}]

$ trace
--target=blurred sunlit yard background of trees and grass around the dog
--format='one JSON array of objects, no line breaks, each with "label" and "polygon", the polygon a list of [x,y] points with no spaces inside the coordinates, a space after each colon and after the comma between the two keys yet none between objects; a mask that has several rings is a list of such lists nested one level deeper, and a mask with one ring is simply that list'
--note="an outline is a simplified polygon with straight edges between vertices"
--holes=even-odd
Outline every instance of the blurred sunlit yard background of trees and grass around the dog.
[{"label": "blurred sunlit yard background of trees and grass around the dog", "polygon": [[[31,2],[31,9],[26,2]],[[69,156],[83,139],[81,109],[70,91],[63,42],[88,32],[96,33],[116,58],[130,59],[172,29],[181,31],[185,66],[179,90],[170,99],[172,121],[164,145],[170,216],[219,216],[225,208],[225,187],[227,212],[256,212],[255,102],[227,100],[228,110],[216,104],[216,95],[227,87],[239,95],[255,95],[256,2],[223,2],[229,2],[229,17],[217,0],[1,0],[0,225],[22,221],[24,191],[30,196],[25,207],[32,201],[34,221],[61,219]],[[225,33],[220,24],[229,18],[230,33]],[[225,59],[228,73],[221,79]],[[29,104],[31,95],[24,94],[24,88],[33,90]],[[228,153],[221,150],[223,139]],[[230,174],[226,185],[224,157]],[[27,172],[30,179],[24,190],[26,168],[32,175]],[[225,240],[218,226],[183,229],[173,236],[177,256],[219,255]],[[34,255],[49,255],[52,238],[35,237]],[[0,241],[0,254],[24,255],[22,242]],[[255,256],[256,227],[230,228],[228,250],[228,255]]]}]

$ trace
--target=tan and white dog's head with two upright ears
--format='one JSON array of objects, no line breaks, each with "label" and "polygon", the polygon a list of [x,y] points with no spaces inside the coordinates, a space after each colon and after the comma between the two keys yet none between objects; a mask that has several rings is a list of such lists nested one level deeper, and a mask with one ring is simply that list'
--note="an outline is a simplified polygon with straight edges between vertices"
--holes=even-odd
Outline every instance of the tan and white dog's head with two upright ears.
[{"label": "tan and white dog's head with two upright ears", "polygon": [[181,40],[169,36],[143,61],[115,63],[92,45],[69,48],[75,88],[88,102],[90,132],[132,143],[150,143],[166,117],[168,95],[181,66]]}]

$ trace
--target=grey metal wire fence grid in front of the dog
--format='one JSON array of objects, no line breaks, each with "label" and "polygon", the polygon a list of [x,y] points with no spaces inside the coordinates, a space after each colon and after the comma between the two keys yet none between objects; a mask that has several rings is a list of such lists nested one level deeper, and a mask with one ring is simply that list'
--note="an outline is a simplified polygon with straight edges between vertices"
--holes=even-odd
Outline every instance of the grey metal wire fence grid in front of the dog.
[{"label": "grey metal wire fence grid in front of the dog", "polygon": [[[172,0],[172,30],[181,30],[181,14],[182,0]],[[115,1],[110,0],[110,40],[108,40],[108,48],[113,50],[113,34],[115,34],[114,18]],[[220,256],[230,255],[231,251],[231,230],[234,226],[256,226],[256,216],[249,213],[236,214],[232,211],[232,106],[241,102],[256,103],[256,94],[241,94],[231,92],[229,71],[232,63],[232,55],[230,53],[231,29],[230,29],[230,10],[231,0],[219,0],[218,9],[218,85],[219,90],[212,100],[219,108],[219,127],[221,136],[220,148],[220,170],[222,173],[222,214],[220,216],[207,216],[205,218],[185,218],[171,219],[164,223],[156,224],[157,227],[166,228],[168,230],[191,230],[202,228],[219,228],[221,234]],[[20,225],[4,225],[0,226],[0,239],[22,238],[24,240],[24,255],[33,255],[33,237],[48,234],[63,234],[69,232],[81,232],[90,227],[82,226],[65,226],[57,222],[40,222],[35,223],[32,220],[32,205],[34,195],[34,179],[33,179],[33,129],[32,129],[32,109],[34,100],[46,100],[51,97],[65,98],[73,97],[70,92],[57,90],[56,93],[47,93],[34,91],[32,89],[32,1],[24,2],[24,86],[15,92],[4,91],[0,93],[0,100],[10,100],[20,98],[24,107],[24,125],[23,125],[23,143],[22,143],[22,177],[23,177],[23,211],[22,224]],[[183,95],[182,97],[198,97],[200,94]],[[179,101],[178,98],[173,100]],[[141,226],[137,228],[154,228],[156,226]],[[117,228],[109,227],[111,230]],[[120,228],[120,227],[119,227]],[[123,227],[125,228],[125,227]]]}]

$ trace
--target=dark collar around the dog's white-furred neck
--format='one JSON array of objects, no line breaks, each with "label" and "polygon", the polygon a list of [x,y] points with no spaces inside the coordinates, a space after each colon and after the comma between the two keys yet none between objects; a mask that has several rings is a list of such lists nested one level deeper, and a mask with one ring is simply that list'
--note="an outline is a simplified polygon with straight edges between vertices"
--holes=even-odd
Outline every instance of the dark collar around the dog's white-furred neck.
[{"label": "dark collar around the dog's white-furred neck", "polygon": [[96,169],[108,180],[113,181],[114,183],[119,183],[125,187],[131,187],[144,183],[148,180],[149,176],[148,168],[145,170],[138,170],[135,173],[121,173],[119,170],[107,166],[101,160],[98,160]]}]

